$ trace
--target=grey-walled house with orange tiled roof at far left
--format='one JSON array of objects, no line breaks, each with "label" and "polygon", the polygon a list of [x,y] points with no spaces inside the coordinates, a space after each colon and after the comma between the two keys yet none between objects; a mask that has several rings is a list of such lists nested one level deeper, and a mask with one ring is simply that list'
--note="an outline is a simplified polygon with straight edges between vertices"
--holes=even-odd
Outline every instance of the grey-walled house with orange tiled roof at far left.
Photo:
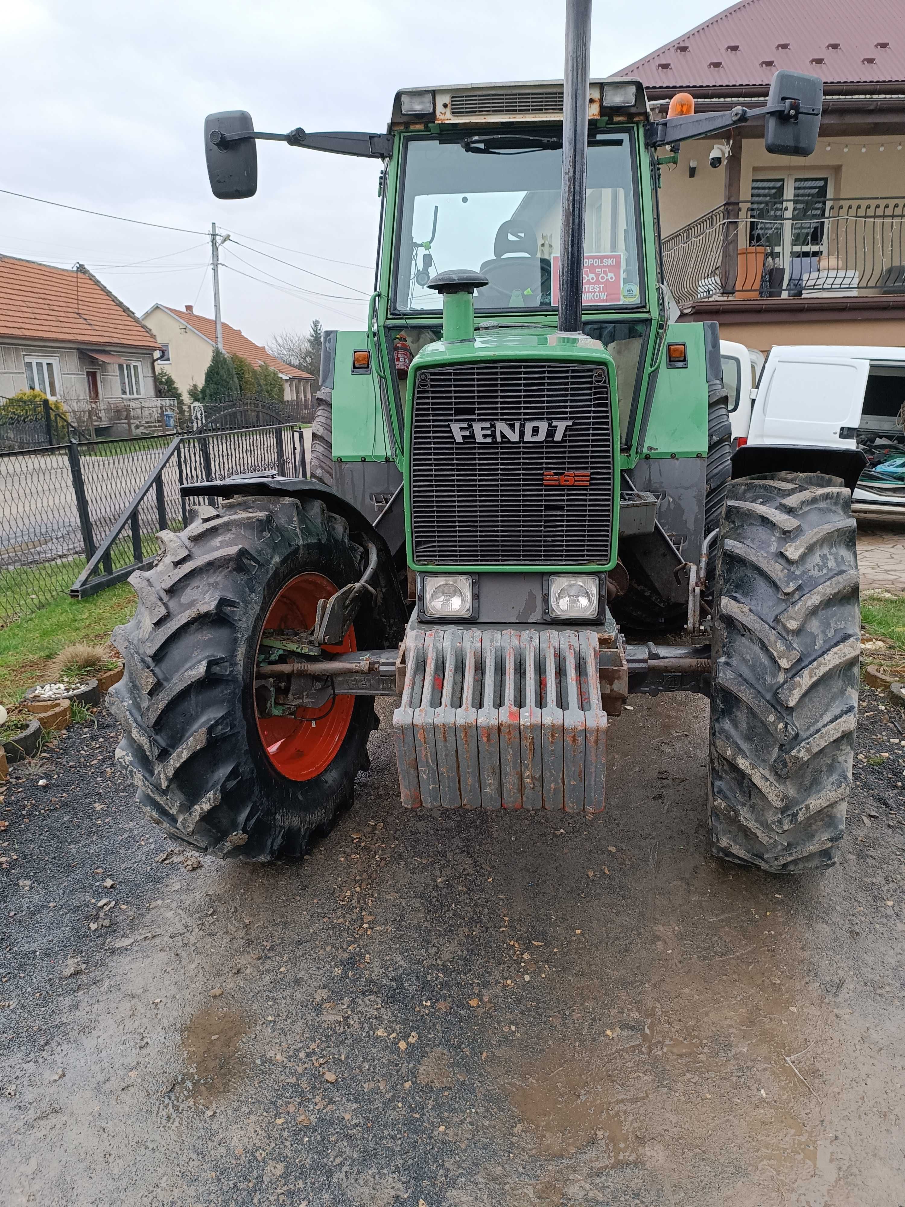
[{"label": "grey-walled house with orange tiled roof at far left", "polygon": [[93,273],[0,255],[0,398],[40,390],[82,428],[159,410],[150,327]]}]

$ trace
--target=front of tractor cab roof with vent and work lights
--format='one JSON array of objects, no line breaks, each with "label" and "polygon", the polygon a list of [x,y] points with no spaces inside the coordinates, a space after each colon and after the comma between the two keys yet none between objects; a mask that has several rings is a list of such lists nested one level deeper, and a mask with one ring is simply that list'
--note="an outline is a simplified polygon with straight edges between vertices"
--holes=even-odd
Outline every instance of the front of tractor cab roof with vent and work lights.
[{"label": "front of tractor cab roof with vent and work lights", "polygon": [[[640,80],[591,80],[588,118],[648,116]],[[562,81],[530,80],[513,83],[463,83],[399,88],[393,100],[391,130],[420,129],[427,124],[487,126],[498,122],[562,122]]]}]

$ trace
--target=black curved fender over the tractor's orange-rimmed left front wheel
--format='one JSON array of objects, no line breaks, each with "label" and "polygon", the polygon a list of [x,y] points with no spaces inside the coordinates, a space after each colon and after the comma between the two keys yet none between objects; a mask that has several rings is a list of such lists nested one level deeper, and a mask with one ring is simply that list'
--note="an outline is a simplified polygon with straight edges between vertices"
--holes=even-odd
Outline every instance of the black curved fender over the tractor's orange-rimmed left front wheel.
[{"label": "black curved fender over the tractor's orange-rimmed left front wheel", "polygon": [[375,572],[379,600],[374,605],[375,612],[381,616],[386,648],[398,646],[405,636],[408,624],[408,607],[402,595],[399,576],[393,565],[392,554],[386,540],[374,527],[367,517],[362,515],[357,507],[350,503],[341,495],[338,495],[331,486],[310,478],[278,478],[278,477],[243,477],[228,478],[224,482],[200,482],[180,486],[183,498],[235,498],[238,496],[282,496],[304,502],[306,498],[319,498],[327,511],[340,515],[349,525],[352,533],[361,532],[374,543],[378,550],[378,567]]}]

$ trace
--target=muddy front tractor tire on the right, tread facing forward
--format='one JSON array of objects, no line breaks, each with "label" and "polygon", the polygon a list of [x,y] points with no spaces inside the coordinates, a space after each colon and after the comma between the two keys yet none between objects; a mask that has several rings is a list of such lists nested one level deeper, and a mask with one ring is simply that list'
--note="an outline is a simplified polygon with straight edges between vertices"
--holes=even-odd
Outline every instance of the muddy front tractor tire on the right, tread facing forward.
[{"label": "muddy front tractor tire on the right, tread facing forward", "polygon": [[714,855],[775,873],[835,863],[858,715],[858,587],[841,479],[729,484],[713,624]]}]

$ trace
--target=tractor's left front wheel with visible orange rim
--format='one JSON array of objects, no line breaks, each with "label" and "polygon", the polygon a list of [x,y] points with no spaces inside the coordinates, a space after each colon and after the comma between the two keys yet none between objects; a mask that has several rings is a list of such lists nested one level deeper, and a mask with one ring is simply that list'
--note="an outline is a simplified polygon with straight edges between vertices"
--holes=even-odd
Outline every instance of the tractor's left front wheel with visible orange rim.
[{"label": "tractor's left front wheel with visible orange rim", "polygon": [[[351,804],[374,706],[339,695],[261,712],[259,641],[264,629],[311,628],[317,600],[358,579],[367,556],[320,500],[241,497],[195,517],[160,532],[162,559],[130,579],[139,606],[113,634],[125,671],[109,696],[123,727],[117,759],[171,838],[227,858],[298,856]],[[327,648],[383,645],[373,613]]]}]

